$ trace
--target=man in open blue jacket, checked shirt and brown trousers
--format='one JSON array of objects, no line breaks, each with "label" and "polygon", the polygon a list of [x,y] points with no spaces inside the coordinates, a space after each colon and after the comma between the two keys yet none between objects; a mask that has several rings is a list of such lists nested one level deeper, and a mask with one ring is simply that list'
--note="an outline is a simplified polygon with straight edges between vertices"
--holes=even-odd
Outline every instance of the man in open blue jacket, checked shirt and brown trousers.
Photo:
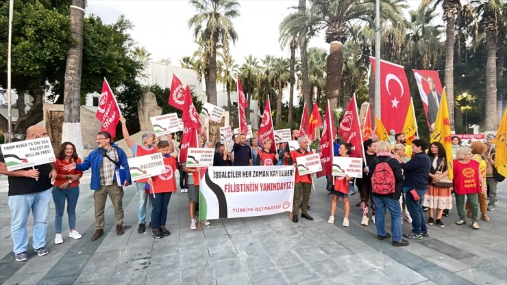
[{"label": "man in open blue jacket, checked shirt and brown trousers", "polygon": [[130,182],[129,164],[127,162],[127,154],[116,144],[111,142],[111,135],[108,132],[97,133],[97,145],[99,148],[88,154],[81,164],[71,163],[64,167],[64,170],[77,169],[85,171],[92,169],[92,179],[90,181],[90,189],[95,190],[93,200],[95,200],[95,234],[92,241],[99,239],[104,233],[104,208],[106,207],[106,199],[109,198],[114,207],[114,223],[116,224],[116,234],[121,235],[123,230],[123,188],[116,182],[116,169],[123,167],[125,172],[124,187]]}]

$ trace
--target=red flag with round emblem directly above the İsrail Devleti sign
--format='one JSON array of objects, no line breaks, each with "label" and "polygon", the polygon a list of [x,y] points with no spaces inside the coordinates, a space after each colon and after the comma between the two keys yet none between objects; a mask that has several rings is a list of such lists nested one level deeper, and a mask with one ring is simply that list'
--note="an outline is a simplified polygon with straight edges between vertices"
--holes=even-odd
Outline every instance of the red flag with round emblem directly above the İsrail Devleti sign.
[{"label": "red flag with round emblem directly above the \u0130srail Devleti sign", "polygon": [[345,114],[338,127],[338,135],[346,143],[352,144],[350,157],[363,157],[361,128],[359,124],[358,107],[356,105],[356,94],[352,96]]}]

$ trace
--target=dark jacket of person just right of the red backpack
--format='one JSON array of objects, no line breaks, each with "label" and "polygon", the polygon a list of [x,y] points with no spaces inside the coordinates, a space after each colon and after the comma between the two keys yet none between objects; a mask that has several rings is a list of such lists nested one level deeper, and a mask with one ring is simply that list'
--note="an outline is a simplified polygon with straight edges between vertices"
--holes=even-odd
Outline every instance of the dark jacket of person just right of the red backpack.
[{"label": "dark jacket of person just right of the red backpack", "polygon": [[404,170],[404,187],[416,190],[428,190],[428,174],[430,174],[430,157],[425,152],[415,154],[410,161],[401,163]]}]

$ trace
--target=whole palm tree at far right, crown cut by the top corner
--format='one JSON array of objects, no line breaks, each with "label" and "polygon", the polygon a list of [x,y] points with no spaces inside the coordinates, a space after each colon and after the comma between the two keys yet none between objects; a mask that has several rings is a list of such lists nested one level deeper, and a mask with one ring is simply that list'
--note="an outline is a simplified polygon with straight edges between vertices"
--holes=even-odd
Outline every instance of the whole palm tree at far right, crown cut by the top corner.
[{"label": "whole palm tree at far right, crown cut by the top corner", "polygon": [[[480,26],[486,33],[486,112],[484,131],[497,128],[497,32],[504,23],[507,3],[503,0],[475,0],[471,2],[475,14],[481,16]],[[505,24],[504,24],[505,25]],[[504,39],[502,39],[504,41]]]}]

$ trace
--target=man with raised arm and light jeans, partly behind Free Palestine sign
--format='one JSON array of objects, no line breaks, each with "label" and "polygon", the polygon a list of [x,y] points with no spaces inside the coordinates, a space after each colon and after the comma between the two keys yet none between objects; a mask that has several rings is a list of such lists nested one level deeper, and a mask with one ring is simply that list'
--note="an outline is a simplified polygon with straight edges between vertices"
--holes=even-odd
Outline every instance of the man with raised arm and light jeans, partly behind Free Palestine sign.
[{"label": "man with raised arm and light jeans, partly behind Free Palestine sign", "polygon": [[[127,143],[127,146],[132,151],[132,155],[134,157],[142,157],[147,154],[154,154],[158,152],[157,149],[157,137],[154,133],[143,133],[141,136],[141,141],[143,144],[138,145],[130,138],[129,131],[127,130],[127,125],[125,122],[125,118],[120,117],[121,122],[121,133],[123,133],[123,138]],[[137,232],[142,234],[146,231],[146,217],[151,217],[151,203],[149,202],[148,195],[146,193],[145,187],[147,184],[147,178],[136,181],[137,188],[137,219],[139,221],[139,226],[137,228]],[[148,208],[148,211],[146,211]],[[148,214],[147,214],[148,213]]]}]

